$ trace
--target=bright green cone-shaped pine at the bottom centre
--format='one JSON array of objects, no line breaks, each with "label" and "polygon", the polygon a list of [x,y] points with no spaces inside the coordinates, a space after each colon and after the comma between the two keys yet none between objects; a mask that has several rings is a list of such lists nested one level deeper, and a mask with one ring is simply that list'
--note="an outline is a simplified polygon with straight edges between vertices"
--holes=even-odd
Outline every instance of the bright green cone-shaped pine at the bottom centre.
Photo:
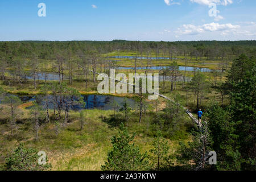
[{"label": "bright green cone-shaped pine at the bottom centre", "polygon": [[112,137],[112,150],[102,170],[108,171],[138,171],[148,169],[147,153],[141,154],[138,146],[131,143],[135,134],[129,135],[127,127],[121,123],[118,136]]}]

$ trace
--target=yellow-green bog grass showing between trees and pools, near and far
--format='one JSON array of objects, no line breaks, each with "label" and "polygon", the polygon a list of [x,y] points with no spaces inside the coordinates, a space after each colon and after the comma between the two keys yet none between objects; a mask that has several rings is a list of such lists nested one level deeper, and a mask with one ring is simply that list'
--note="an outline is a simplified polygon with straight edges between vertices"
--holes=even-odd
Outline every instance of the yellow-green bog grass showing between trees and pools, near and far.
[{"label": "yellow-green bog grass showing between trees and pools, near and far", "polygon": [[[129,56],[135,55],[135,52],[120,52],[119,55]],[[117,52],[113,52],[110,55],[117,55]],[[145,55],[143,55],[145,56]],[[155,56],[152,53],[151,56]],[[184,61],[182,56],[177,60],[179,65],[183,65]],[[139,60],[138,66],[145,66],[146,60]],[[170,60],[157,60],[152,61],[152,65],[168,65]],[[208,60],[207,60],[208,61]],[[217,63],[217,61],[208,61],[207,63]],[[51,62],[49,61],[49,64]],[[119,65],[133,67],[134,60],[123,59],[118,62]],[[189,60],[187,66],[200,67],[201,62],[196,60]],[[204,67],[210,69],[217,69],[214,64],[205,64]],[[51,72],[51,67],[48,65],[47,71]],[[133,73],[132,70],[117,70],[117,73]],[[138,73],[144,73],[143,70],[138,70]],[[158,73],[159,71],[150,71],[151,73]],[[67,71],[64,72],[67,74]],[[82,94],[98,94],[97,84],[93,81],[88,82],[88,89],[85,89],[85,82],[81,76],[77,76],[77,71],[74,74],[73,88],[76,88]],[[180,71],[180,75],[183,75],[184,71]],[[210,83],[213,83],[214,77],[213,73],[203,73],[204,76]],[[44,85],[44,81],[37,81],[36,89],[34,89],[32,80],[23,82],[19,86],[16,82],[11,80],[11,75],[6,73],[7,81],[11,81],[13,85],[6,84],[0,81],[0,85],[9,93],[20,94],[20,95],[35,95],[40,94],[40,88]],[[187,77],[193,77],[193,72],[186,72]],[[223,76],[226,76],[224,73]],[[90,80],[92,80],[92,75],[90,75]],[[222,82],[225,77],[222,78]],[[49,82],[49,81],[47,81]],[[67,80],[65,82],[68,83]],[[162,88],[162,83],[160,83],[160,93],[167,97],[172,97],[174,93],[181,94],[183,98],[183,104],[185,105],[185,90],[181,89],[182,83],[177,82],[176,90],[174,93],[170,93],[170,82],[166,82],[166,88]],[[220,77],[218,77],[218,84],[220,84]],[[114,94],[115,96],[125,96],[134,97],[134,94]],[[162,109],[164,108],[166,100],[159,98],[160,105]],[[188,104],[187,107],[192,111],[195,110],[195,102],[193,102],[194,96],[189,92],[188,94]],[[220,101],[220,93],[216,88],[210,87],[209,92],[204,94],[204,98],[201,100],[201,106],[207,107],[212,101]],[[149,105],[154,106],[154,102],[148,102]],[[226,100],[224,100],[224,104]],[[29,105],[29,104],[28,104]],[[26,104],[19,107],[19,113],[17,118],[17,127],[14,137],[10,135],[9,126],[9,110],[6,106],[1,106],[0,109],[0,164],[4,162],[4,156],[8,154],[11,150],[14,150],[19,143],[24,143],[27,147],[35,147],[38,150],[46,151],[48,155],[49,162],[52,163],[53,170],[100,170],[102,164],[106,160],[108,151],[111,148],[110,138],[117,134],[118,126],[112,126],[112,123],[108,123],[108,118],[113,115],[112,110],[86,110],[86,125],[83,130],[80,130],[79,124],[79,113],[71,111],[69,114],[69,119],[72,121],[64,127],[60,123],[60,133],[56,136],[55,125],[51,122],[40,127],[39,141],[35,142],[35,131],[34,124],[32,123],[29,110],[26,110]],[[51,110],[52,114],[53,111]],[[185,113],[184,113],[185,114]],[[137,133],[135,137],[135,144],[139,146],[141,151],[148,151],[151,149],[151,142],[154,138],[154,132],[152,128],[148,129],[147,118],[142,119],[142,123],[138,123],[138,110],[133,107],[133,113],[129,119],[129,122],[125,123],[129,127],[130,133]],[[190,140],[190,134],[188,131],[182,129],[182,131],[177,131],[176,135],[171,139],[168,139],[170,144],[169,154],[175,154],[179,150],[179,141],[187,142]]]}]

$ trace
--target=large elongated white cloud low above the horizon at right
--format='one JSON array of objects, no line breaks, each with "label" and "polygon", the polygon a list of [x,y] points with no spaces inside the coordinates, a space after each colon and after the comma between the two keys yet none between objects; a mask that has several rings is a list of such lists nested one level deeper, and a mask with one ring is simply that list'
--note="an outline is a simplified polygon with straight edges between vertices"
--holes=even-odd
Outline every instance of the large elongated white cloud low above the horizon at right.
[{"label": "large elongated white cloud low above the horizon at right", "polygon": [[201,26],[195,26],[193,24],[183,24],[181,28],[178,28],[176,34],[181,35],[197,35],[204,32],[213,32],[213,31],[227,31],[240,28],[239,25],[233,25],[231,23],[218,24],[218,23],[208,23]]}]

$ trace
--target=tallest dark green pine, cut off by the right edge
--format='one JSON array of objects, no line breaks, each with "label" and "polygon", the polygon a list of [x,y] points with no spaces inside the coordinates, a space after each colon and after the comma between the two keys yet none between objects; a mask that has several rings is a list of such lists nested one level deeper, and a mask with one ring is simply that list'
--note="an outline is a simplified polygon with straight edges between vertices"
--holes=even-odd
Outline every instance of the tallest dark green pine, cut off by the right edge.
[{"label": "tallest dark green pine, cut off by the right edge", "polygon": [[236,138],[236,158],[240,161],[238,169],[255,170],[255,118],[256,118],[256,59],[241,55],[234,61],[229,72],[226,89],[230,94],[228,106],[234,123],[233,135]]}]

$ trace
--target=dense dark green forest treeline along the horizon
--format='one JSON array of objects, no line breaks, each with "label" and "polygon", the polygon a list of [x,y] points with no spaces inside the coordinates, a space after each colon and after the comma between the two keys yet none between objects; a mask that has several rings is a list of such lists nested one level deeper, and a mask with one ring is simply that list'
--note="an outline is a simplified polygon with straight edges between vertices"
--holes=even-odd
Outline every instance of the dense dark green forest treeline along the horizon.
[{"label": "dense dark green forest treeline along the horizon", "polygon": [[[70,41],[70,42],[45,42],[45,41],[20,41],[20,42],[0,42],[1,56],[23,56],[31,57],[38,54],[42,59],[52,56],[56,51],[95,49],[101,53],[115,50],[143,51],[152,49],[157,51],[173,52],[176,55],[193,55],[223,57],[225,55],[239,56],[255,55],[256,41],[192,41],[192,42],[139,42],[126,40],[106,41]],[[225,54],[225,55],[224,55]]]}]

